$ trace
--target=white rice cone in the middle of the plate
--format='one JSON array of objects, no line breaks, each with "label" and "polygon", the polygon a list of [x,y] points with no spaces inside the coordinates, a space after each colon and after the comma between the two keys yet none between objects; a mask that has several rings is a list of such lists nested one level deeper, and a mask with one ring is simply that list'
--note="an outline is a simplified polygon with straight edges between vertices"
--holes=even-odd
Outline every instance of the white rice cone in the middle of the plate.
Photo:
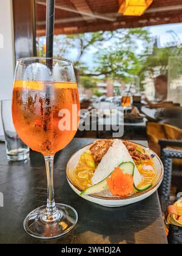
[{"label": "white rice cone in the middle of the plate", "polygon": [[[115,140],[95,170],[95,174],[92,177],[93,185],[106,179],[106,177],[108,177],[112,171],[123,162],[132,162],[135,165],[133,158],[130,156],[123,142],[121,140]],[[135,186],[138,186],[142,181],[142,176],[136,166],[133,179]]]}]

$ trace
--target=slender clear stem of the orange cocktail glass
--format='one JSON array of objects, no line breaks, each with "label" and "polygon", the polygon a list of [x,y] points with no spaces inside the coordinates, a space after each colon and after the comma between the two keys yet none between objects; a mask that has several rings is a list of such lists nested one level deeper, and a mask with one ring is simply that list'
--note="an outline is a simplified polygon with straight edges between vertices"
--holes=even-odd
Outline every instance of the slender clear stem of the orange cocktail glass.
[{"label": "slender clear stem of the orange cocktail glass", "polygon": [[[50,155],[45,158],[45,166],[47,172],[47,207],[44,215],[47,218],[47,221],[53,221],[57,215],[57,209],[55,204],[54,196],[54,185],[53,185],[53,163],[54,156]],[[44,219],[45,219],[44,216]]]}]

